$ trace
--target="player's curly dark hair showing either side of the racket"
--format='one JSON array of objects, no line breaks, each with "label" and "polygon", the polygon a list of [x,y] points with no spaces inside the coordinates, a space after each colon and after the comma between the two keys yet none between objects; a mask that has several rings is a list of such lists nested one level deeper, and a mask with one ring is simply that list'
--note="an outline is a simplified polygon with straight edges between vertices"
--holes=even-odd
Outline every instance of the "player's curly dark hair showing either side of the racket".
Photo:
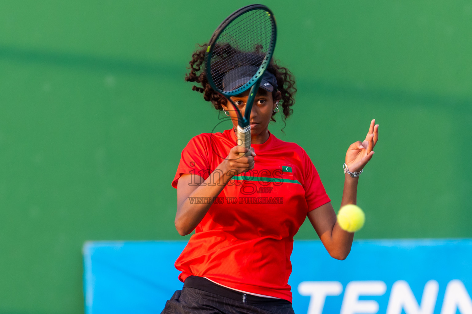
[{"label": "player's curly dark hair showing either side of the racket", "polygon": [[[190,73],[185,74],[185,81],[197,82],[201,84],[201,87],[194,85],[192,90],[202,93],[203,99],[210,101],[215,109],[223,110],[221,105],[226,105],[226,98],[211,88],[204,71],[205,52],[207,50],[208,44],[205,43],[198,46],[200,48],[192,54],[190,67],[187,68],[190,70]],[[282,106],[282,121],[285,122],[287,117],[293,112],[291,107],[295,104],[296,87],[295,77],[292,72],[290,72],[287,68],[280,66],[279,62],[279,60],[274,61],[272,58],[272,60],[270,60],[269,66],[267,67],[267,71],[274,74],[277,79],[278,89],[274,89],[272,91],[272,97],[275,99],[277,91],[280,91],[282,94],[278,101]],[[272,113],[272,121],[276,121],[274,119],[274,114],[275,113]]]}]

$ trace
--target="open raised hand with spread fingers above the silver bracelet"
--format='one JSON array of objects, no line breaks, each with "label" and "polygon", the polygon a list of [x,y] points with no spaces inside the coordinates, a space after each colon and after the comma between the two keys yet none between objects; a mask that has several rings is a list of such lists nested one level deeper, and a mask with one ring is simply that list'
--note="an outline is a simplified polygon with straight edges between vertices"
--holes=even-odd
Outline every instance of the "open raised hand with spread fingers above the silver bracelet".
[{"label": "open raised hand with spread fingers above the silver bracelet", "polygon": [[369,132],[363,142],[357,141],[349,146],[346,153],[346,166],[351,172],[361,171],[374,155],[374,146],[379,140],[379,125],[371,121]]}]

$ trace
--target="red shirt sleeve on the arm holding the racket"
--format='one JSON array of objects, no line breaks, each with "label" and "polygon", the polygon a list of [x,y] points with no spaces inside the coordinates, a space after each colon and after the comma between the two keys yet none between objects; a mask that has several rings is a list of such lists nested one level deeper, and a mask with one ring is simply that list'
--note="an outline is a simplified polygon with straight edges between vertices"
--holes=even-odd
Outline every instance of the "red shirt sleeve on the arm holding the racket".
[{"label": "red shirt sleeve on the arm holding the racket", "polygon": [[172,186],[177,188],[177,181],[183,174],[194,174],[206,179],[209,169],[208,138],[201,134],[192,138],[182,151]]}]

